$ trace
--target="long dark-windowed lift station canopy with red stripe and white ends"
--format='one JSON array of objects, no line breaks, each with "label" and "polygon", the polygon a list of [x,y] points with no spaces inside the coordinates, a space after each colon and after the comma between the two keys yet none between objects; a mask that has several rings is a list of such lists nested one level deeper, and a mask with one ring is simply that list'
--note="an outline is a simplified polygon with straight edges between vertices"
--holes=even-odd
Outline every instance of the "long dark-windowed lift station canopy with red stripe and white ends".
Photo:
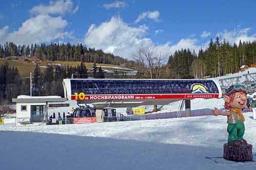
[{"label": "long dark-windowed lift station canopy with red stripe and white ends", "polygon": [[65,98],[98,108],[165,105],[222,96],[218,81],[196,79],[63,79],[63,88]]}]

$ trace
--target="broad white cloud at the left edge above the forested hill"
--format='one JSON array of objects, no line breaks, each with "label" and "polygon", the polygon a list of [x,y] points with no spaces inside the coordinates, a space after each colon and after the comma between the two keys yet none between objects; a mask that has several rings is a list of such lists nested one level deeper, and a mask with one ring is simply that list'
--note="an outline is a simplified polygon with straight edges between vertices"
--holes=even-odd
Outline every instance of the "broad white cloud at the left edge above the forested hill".
[{"label": "broad white cloud at the left edge above the forested hill", "polygon": [[73,38],[72,32],[63,31],[67,25],[68,21],[60,16],[37,15],[23,22],[17,31],[8,33],[8,26],[0,29],[0,43],[13,41],[16,44],[30,44]]}]

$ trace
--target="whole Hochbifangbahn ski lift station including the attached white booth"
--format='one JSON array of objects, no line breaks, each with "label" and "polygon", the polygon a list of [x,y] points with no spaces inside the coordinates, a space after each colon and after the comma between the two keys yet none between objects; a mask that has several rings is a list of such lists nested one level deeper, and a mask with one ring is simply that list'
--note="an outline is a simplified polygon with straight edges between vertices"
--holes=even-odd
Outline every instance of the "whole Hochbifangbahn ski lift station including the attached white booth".
[{"label": "whole Hochbifangbahn ski lift station including the attached white booth", "polygon": [[[186,115],[190,100],[221,98],[222,91],[215,80],[182,79],[63,79],[65,98],[60,96],[18,96],[16,124],[43,123],[48,107],[65,107],[68,100],[92,104],[97,113],[106,107],[127,108],[145,105],[166,105],[185,101]],[[67,110],[68,111],[68,110]]]}]

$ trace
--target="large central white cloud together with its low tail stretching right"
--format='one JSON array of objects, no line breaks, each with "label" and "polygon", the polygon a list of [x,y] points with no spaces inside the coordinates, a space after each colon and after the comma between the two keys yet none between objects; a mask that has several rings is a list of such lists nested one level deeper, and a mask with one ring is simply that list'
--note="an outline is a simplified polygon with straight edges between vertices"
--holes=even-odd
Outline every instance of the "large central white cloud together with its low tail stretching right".
[{"label": "large central white cloud together with its low tail stretching right", "polygon": [[201,45],[197,44],[198,40],[191,38],[181,39],[174,45],[169,42],[155,45],[150,38],[145,37],[147,30],[145,25],[131,27],[120,17],[112,17],[110,21],[103,22],[99,26],[91,25],[83,42],[89,47],[102,49],[104,52],[110,52],[127,59],[133,59],[141,46],[153,46],[155,52],[168,53],[169,55],[176,50],[181,50],[181,48],[189,48],[191,51],[195,49],[196,52],[201,48]]}]

